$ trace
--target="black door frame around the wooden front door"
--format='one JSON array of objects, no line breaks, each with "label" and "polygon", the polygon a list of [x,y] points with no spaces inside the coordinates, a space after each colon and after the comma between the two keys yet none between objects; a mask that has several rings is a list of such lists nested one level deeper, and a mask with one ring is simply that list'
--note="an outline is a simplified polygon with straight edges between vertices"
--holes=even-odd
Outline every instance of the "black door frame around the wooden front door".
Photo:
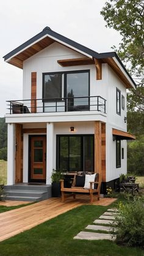
[{"label": "black door frame around the wooden front door", "polygon": [[28,182],[34,182],[34,183],[46,183],[46,179],[44,180],[38,180],[38,179],[32,179],[31,178],[31,138],[32,137],[46,137],[45,134],[35,134],[35,135],[29,135],[29,146],[28,146]]}]

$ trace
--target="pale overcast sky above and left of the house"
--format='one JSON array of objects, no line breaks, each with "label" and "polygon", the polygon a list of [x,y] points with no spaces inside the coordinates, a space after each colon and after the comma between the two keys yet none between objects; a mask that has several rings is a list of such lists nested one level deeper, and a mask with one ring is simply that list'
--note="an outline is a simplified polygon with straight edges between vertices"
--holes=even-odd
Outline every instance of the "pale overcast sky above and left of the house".
[{"label": "pale overcast sky above and left of the house", "polygon": [[23,70],[2,58],[49,26],[98,53],[112,51],[121,36],[106,28],[100,11],[106,0],[4,0],[0,8],[0,117],[6,100],[22,100]]}]

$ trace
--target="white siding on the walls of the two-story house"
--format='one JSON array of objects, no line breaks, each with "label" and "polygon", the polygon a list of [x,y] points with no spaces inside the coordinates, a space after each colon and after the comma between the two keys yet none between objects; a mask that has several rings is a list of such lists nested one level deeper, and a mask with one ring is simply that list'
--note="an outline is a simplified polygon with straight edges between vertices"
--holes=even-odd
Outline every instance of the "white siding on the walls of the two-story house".
[{"label": "white siding on the walls of the two-story house", "polygon": [[[126,88],[123,82],[107,65],[102,64],[102,80],[96,80],[95,65],[83,65],[76,67],[61,67],[57,60],[84,57],[84,55],[69,49],[59,43],[53,43],[39,53],[24,61],[23,68],[23,99],[31,99],[31,72],[37,72],[37,98],[42,98],[42,73],[54,71],[90,70],[90,96],[101,96],[107,100],[107,114],[100,115],[95,112],[54,113],[54,114],[26,114],[21,117],[12,115],[6,122],[24,123],[24,128],[46,128],[47,122],[54,122],[54,147],[53,168],[56,168],[56,134],[70,134],[70,126],[76,128],[76,134],[94,134],[94,121],[106,122],[106,181],[118,178],[121,173],[126,173],[126,141],[121,141],[124,148],[124,159],[121,159],[121,167],[116,168],[116,143],[112,138],[112,128],[126,131]],[[116,112],[116,88],[121,90],[124,96],[125,109],[121,109],[121,115]],[[60,117],[62,115],[62,117]],[[81,122],[79,122],[81,121]],[[84,122],[85,121],[85,122]],[[91,122],[93,121],[93,122]],[[30,123],[32,122],[32,123]],[[59,122],[59,123],[58,123]],[[27,150],[28,134],[24,134],[24,181],[27,181]],[[47,174],[48,175],[48,174]]]}]

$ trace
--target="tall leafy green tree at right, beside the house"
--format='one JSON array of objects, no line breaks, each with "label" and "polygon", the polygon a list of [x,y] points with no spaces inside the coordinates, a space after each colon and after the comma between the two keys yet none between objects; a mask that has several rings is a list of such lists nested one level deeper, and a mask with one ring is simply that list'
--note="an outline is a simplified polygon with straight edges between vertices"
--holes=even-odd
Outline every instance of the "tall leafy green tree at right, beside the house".
[{"label": "tall leafy green tree at right, beside the house", "polygon": [[128,91],[128,131],[137,141],[128,142],[128,172],[143,175],[144,150],[144,2],[143,0],[107,0],[101,11],[107,27],[119,31],[122,37],[117,51],[136,76],[136,90]]}]

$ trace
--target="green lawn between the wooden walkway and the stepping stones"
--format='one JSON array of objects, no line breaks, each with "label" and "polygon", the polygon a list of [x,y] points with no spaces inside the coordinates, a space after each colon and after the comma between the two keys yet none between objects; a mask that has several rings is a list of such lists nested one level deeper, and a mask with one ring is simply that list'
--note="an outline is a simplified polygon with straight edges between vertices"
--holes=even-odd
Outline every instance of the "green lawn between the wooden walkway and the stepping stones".
[{"label": "green lawn between the wooden walkway and the stepping stones", "polygon": [[117,246],[112,241],[73,240],[88,224],[98,218],[108,207],[84,205],[54,219],[20,233],[0,243],[1,256],[51,256],[99,255],[140,256],[144,251]]}]

